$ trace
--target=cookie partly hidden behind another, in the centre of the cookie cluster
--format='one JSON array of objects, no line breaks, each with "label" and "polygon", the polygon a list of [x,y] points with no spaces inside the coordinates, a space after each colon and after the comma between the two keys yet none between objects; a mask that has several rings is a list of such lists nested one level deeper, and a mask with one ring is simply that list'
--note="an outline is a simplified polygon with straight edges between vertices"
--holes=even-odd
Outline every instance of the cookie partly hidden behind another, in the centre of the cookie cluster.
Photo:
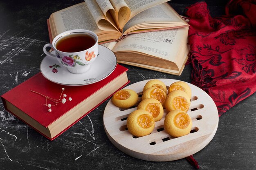
[{"label": "cookie partly hidden behind another, in the centre of the cookie cluster", "polygon": [[142,100],[148,99],[148,98],[157,99],[164,107],[166,93],[161,88],[150,87],[143,93],[141,97]]}]

